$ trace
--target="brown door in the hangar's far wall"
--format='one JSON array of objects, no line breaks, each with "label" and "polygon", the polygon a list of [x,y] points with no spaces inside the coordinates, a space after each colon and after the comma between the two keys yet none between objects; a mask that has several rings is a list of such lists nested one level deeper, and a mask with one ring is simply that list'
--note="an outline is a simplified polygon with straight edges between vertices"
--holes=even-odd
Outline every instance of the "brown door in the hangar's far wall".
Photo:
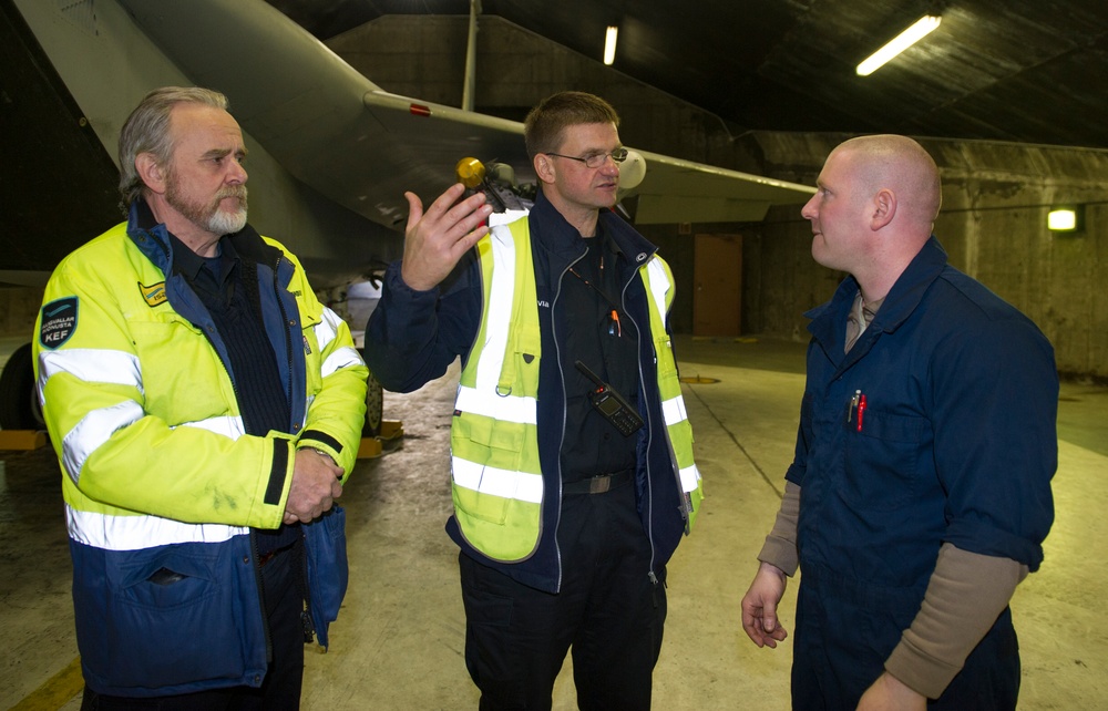
[{"label": "brown door in the hangar's far wall", "polygon": [[742,237],[697,235],[694,261],[693,334],[739,336]]}]

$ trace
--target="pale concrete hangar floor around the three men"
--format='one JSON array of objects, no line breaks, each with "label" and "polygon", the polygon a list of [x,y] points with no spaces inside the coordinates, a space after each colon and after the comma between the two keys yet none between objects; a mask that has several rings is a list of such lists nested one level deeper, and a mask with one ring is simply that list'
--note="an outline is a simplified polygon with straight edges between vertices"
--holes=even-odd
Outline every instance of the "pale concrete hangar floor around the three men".
[{"label": "pale concrete hangar floor around the three men", "polygon": [[[0,342],[0,347],[3,343]],[[787,709],[791,643],[757,649],[739,600],[780,501],[803,390],[803,344],[678,339],[707,498],[669,567],[669,620],[655,708]],[[0,357],[6,357],[7,352]],[[359,463],[349,512],[350,589],[326,655],[309,650],[302,708],[474,709],[462,660],[448,432],[456,370],[419,393],[386,395],[403,447]],[[1108,544],[1108,388],[1063,385],[1057,517],[1046,561],[1017,590],[1023,650],[1019,708],[1108,708],[1105,626]],[[0,452],[0,709],[79,708],[71,567],[52,451]],[[791,629],[796,584],[783,604]],[[567,663],[568,667],[568,663]],[[555,709],[575,708],[563,670]]]}]

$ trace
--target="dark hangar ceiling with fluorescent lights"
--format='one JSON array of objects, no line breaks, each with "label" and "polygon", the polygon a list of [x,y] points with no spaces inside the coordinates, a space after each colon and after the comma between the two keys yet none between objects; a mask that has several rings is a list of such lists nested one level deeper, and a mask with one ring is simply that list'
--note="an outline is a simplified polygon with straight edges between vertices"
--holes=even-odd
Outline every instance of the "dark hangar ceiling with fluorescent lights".
[{"label": "dark hangar ceiling with fluorescent lights", "polygon": [[[268,0],[326,40],[468,0]],[[904,133],[1108,148],[1106,0],[482,0],[745,130]],[[854,66],[925,13],[942,25],[869,78]]]}]

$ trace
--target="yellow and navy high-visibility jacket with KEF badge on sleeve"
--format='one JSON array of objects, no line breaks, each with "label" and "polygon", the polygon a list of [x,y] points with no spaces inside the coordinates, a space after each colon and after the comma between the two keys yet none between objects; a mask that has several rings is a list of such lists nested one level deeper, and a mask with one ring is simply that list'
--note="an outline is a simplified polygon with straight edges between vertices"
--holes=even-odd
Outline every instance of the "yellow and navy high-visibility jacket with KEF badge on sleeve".
[{"label": "yellow and navy high-visibility jacket with KEF badge on sleeve", "polygon": [[[280,525],[297,449],[353,468],[368,370],[296,257],[249,226],[226,237],[257,271],[289,389],[286,431],[247,435],[215,323],[147,220],[136,205],[66,257],[35,324],[85,679],[120,695],[257,686],[267,641],[249,528]],[[165,585],[163,568],[184,579]]]}]

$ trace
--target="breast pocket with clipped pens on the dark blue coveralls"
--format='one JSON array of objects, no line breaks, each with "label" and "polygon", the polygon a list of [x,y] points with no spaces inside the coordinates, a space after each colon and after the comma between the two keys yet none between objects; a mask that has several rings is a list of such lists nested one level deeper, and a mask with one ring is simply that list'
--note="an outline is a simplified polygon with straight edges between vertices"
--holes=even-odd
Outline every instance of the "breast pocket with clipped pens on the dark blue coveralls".
[{"label": "breast pocket with clipped pens on the dark blue coveralls", "polygon": [[910,504],[923,488],[921,478],[932,467],[931,423],[924,418],[865,411],[862,431],[845,423],[847,446],[839,491],[859,511],[894,511]]}]

